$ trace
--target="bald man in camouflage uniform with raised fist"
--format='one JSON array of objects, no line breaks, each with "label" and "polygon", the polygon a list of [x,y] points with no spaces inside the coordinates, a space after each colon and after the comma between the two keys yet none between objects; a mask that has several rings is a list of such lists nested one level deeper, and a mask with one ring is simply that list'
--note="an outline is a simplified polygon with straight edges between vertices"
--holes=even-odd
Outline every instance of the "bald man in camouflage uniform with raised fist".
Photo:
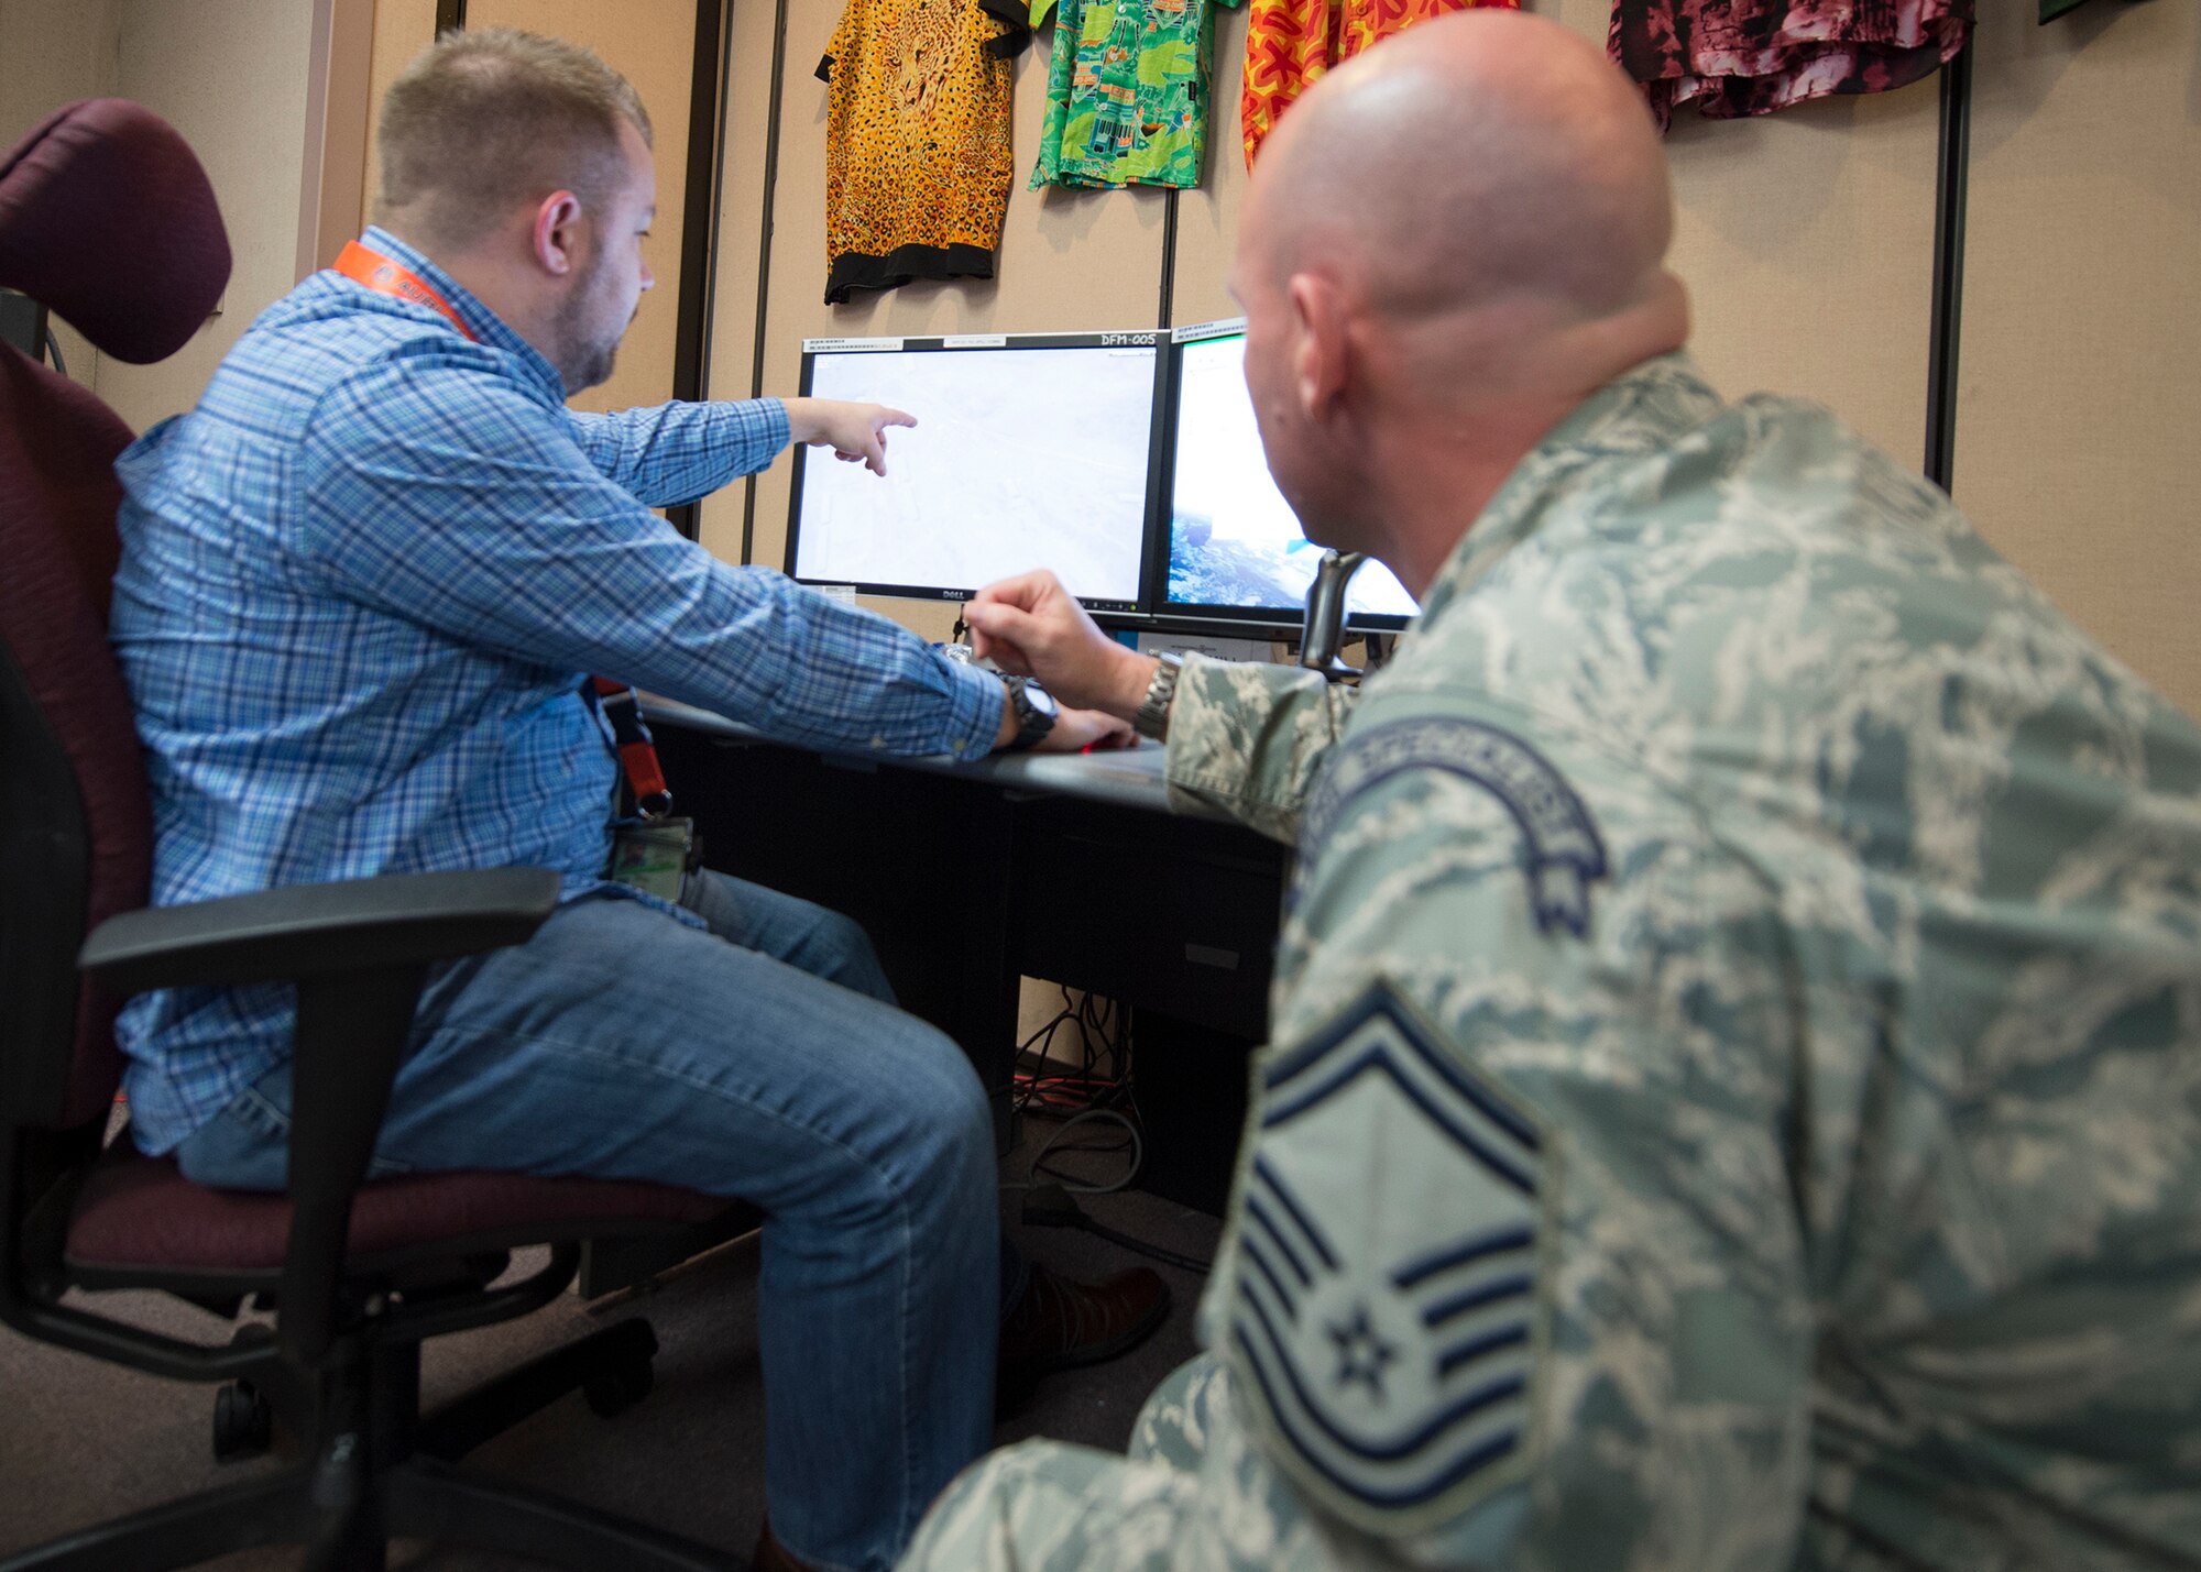
[{"label": "bald man in camouflage uniform with raised fist", "polygon": [[1723,405],[1666,238],[1574,35],[1373,51],[1233,282],[1395,663],[1171,696],[1045,575],[971,608],[1299,870],[1208,1354],[905,1565],[2201,1563],[2201,731],[1825,410]]}]

